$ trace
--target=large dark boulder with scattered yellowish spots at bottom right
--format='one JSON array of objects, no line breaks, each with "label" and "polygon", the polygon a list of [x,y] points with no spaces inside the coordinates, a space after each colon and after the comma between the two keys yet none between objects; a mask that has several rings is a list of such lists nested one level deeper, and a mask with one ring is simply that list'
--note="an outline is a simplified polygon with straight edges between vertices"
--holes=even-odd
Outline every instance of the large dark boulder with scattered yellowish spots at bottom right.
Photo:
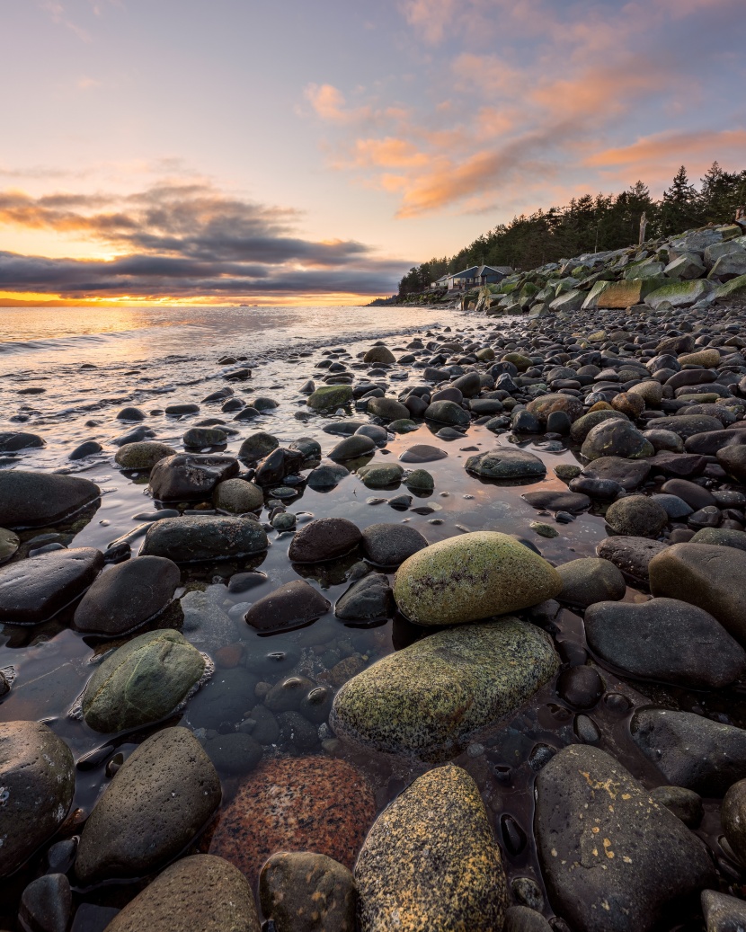
[{"label": "large dark boulder with scattered yellowish spots at bottom right", "polygon": [[549,898],[577,932],[647,932],[714,881],[704,844],[597,747],[560,750],[536,793]]}]

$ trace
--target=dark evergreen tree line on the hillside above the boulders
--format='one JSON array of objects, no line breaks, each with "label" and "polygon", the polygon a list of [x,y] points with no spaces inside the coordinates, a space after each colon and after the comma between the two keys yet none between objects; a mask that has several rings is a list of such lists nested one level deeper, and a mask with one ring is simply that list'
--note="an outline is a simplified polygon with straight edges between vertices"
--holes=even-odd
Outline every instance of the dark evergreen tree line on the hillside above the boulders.
[{"label": "dark evergreen tree line on the hillside above the boulders", "polygon": [[746,169],[723,171],[717,162],[691,185],[684,165],[660,200],[650,197],[642,181],[621,194],[590,194],[565,207],[521,214],[477,237],[459,253],[430,259],[409,269],[399,282],[399,295],[427,289],[442,275],[471,266],[511,266],[517,270],[543,266],[582,253],[624,249],[638,241],[640,217],[647,219],[646,239],[732,220],[746,203]]}]

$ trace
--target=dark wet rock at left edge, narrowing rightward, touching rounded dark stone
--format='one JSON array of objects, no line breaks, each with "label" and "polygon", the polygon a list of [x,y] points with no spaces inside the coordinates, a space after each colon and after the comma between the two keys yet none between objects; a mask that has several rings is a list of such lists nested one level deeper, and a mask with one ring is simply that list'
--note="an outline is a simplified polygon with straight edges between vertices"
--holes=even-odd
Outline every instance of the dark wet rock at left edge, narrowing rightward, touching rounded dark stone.
[{"label": "dark wet rock at left edge, narrowing rightward, touching rounded dark stone", "polygon": [[0,569],[0,622],[40,624],[85,592],[104,566],[92,547],[54,550]]}]

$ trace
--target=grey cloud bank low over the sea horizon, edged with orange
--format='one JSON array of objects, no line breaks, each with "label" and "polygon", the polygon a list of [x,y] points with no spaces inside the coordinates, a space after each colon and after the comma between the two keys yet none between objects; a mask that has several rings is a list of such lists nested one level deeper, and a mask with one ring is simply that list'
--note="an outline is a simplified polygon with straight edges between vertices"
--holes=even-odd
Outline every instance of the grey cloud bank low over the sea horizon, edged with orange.
[{"label": "grey cloud bank low over the sea horizon, edged with orange", "polygon": [[380,295],[404,263],[380,260],[353,240],[291,235],[297,214],[208,185],[161,185],[126,198],[0,192],[0,224],[105,243],[113,260],[55,259],[0,251],[0,290],[83,298]]}]

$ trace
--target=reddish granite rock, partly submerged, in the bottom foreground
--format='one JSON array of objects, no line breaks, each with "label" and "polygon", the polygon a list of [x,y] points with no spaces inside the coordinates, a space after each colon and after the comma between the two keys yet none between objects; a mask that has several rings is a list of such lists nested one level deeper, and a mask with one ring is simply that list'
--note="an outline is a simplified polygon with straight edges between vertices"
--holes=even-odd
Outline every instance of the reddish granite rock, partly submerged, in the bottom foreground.
[{"label": "reddish granite rock, partly submerged, in the bottom foreground", "polygon": [[376,817],[366,777],[333,758],[275,758],[250,774],[220,815],[210,853],[256,883],[277,851],[314,851],[352,870]]}]

